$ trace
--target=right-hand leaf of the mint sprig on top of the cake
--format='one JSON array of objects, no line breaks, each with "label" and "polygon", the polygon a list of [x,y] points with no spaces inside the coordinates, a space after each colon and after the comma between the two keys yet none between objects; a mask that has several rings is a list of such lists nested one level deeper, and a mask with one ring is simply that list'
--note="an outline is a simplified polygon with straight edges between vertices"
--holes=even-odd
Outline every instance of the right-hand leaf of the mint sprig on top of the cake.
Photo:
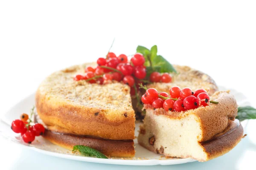
[{"label": "right-hand leaf of the mint sprig on top of the cake", "polygon": [[170,73],[170,72],[176,72],[175,68],[172,66],[171,63],[169,63],[165,58],[158,55],[152,60],[152,65],[158,65],[161,66],[160,73]]}]

